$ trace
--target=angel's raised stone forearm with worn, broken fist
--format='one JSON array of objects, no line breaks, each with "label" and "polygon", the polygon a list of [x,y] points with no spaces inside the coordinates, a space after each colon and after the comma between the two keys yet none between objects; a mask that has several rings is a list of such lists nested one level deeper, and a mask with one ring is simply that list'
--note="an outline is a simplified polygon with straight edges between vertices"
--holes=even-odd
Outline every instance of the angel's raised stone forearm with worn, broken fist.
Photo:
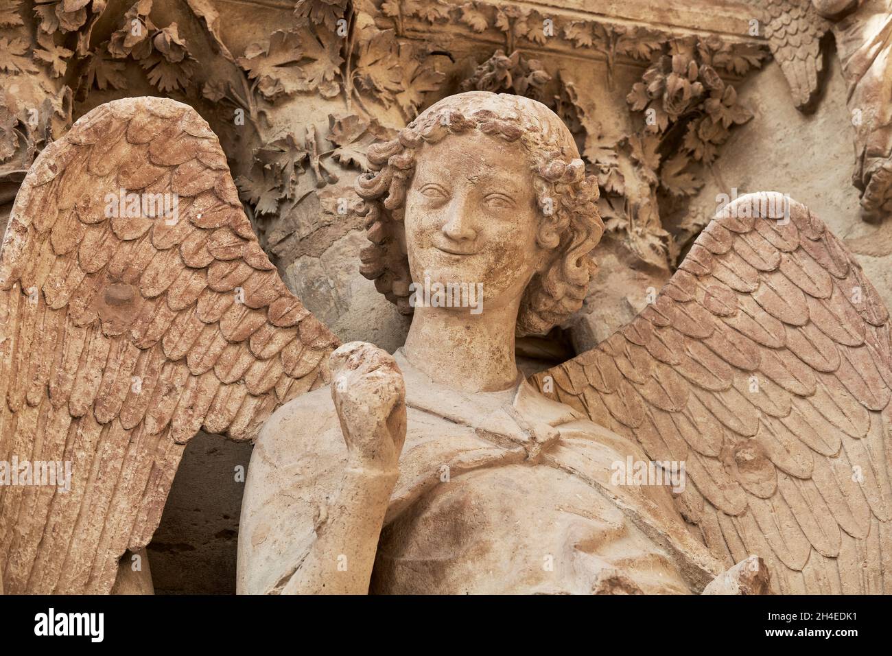
[{"label": "angel's raised stone forearm with worn, broken fist", "polygon": [[406,437],[405,388],[392,357],[361,342],[332,353],[332,399],[348,458],[340,489],[282,594],[366,594]]}]

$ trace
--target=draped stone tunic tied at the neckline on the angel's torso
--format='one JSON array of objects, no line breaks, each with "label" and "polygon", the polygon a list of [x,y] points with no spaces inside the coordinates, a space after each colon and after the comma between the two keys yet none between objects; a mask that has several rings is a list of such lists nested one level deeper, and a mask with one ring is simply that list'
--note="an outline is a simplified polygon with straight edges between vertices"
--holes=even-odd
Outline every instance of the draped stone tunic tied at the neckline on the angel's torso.
[{"label": "draped stone tunic tied at the neckline on the angel's torso", "polygon": [[[612,463],[647,460],[636,444],[522,378],[465,394],[395,358],[408,428],[370,593],[687,594],[723,569],[667,487],[611,485]],[[327,387],[268,420],[244,494],[240,593],[276,592],[299,567],[346,457]]]}]

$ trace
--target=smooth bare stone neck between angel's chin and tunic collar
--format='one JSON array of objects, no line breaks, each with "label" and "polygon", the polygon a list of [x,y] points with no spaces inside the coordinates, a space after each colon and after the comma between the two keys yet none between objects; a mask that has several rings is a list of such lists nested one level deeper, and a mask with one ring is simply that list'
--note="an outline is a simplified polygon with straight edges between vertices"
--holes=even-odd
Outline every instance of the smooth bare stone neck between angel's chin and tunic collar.
[{"label": "smooth bare stone neck between angel's chin and tunic collar", "polygon": [[435,383],[464,392],[514,386],[516,305],[474,315],[462,308],[417,307],[403,353]]}]

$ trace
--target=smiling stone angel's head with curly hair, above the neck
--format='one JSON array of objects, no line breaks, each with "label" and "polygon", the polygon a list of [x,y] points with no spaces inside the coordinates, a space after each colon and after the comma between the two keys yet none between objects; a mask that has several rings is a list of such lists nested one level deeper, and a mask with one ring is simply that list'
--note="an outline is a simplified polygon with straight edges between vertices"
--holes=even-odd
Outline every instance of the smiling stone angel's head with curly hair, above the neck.
[{"label": "smiling stone angel's head with curly hair, above the neck", "polygon": [[450,95],[371,146],[368,162],[357,181],[371,242],[360,271],[401,312],[425,278],[478,286],[487,307],[519,303],[518,335],[580,308],[603,232],[598,183],[544,104]]}]

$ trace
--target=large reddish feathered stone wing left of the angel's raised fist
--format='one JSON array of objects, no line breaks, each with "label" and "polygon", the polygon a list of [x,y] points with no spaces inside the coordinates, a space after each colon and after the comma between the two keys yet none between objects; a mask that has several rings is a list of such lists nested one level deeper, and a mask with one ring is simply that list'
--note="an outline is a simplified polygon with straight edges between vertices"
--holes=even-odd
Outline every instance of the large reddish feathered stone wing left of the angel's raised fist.
[{"label": "large reddish feathered stone wing left of the angel's raised fist", "polygon": [[[178,212],[107,218],[121,190]],[[263,253],[194,110],[128,98],[78,120],[32,166],[0,253],[0,459],[71,463],[68,492],[0,486],[5,593],[108,592],[186,442],[250,439],[323,384],[335,345]]]}]

